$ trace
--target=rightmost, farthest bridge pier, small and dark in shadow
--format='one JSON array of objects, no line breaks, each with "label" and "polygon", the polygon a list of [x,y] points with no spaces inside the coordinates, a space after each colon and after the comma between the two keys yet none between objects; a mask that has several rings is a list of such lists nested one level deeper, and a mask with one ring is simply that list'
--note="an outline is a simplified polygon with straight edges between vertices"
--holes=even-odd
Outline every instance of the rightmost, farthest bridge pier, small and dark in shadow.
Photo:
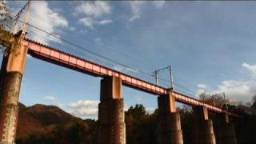
[{"label": "rightmost, farthest bridge pier, small and dark in shadow", "polygon": [[230,123],[229,115],[226,113],[217,114],[217,144],[237,144],[234,125]]}]

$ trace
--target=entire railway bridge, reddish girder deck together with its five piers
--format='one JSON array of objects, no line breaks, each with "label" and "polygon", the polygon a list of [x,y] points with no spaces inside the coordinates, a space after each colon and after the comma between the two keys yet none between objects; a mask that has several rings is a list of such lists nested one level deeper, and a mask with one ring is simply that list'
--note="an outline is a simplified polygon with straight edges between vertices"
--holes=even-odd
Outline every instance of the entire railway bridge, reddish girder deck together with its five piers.
[{"label": "entire railway bridge, reddish girder deck together with its five piers", "polygon": [[[16,36],[17,37],[17,36]],[[0,75],[0,143],[14,143],[18,125],[18,97],[22,75],[26,67],[26,55],[77,70],[84,74],[102,77],[100,103],[98,105],[98,144],[125,144],[126,123],[124,118],[124,102],[122,86],[142,90],[158,97],[158,143],[182,144],[182,127],[176,102],[193,106],[194,111],[194,143],[236,144],[234,126],[230,117],[241,118],[238,114],[211,106],[198,99],[162,86],[154,85],[140,78],[123,74],[95,62],[78,58],[61,50],[43,45],[25,38],[20,44],[18,39],[11,42],[14,52],[4,55]],[[214,134],[214,122],[208,111],[218,114],[223,129]]]}]

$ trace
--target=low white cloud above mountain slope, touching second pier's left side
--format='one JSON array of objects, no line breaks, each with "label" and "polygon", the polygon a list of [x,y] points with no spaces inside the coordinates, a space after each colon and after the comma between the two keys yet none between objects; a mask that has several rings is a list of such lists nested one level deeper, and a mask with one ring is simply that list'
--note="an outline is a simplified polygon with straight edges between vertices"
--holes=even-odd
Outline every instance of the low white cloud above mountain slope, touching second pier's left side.
[{"label": "low white cloud above mountain slope, touching second pier's left side", "polygon": [[71,109],[71,114],[86,118],[98,114],[98,103],[98,101],[92,100],[79,100],[78,102],[70,103],[68,107]]}]

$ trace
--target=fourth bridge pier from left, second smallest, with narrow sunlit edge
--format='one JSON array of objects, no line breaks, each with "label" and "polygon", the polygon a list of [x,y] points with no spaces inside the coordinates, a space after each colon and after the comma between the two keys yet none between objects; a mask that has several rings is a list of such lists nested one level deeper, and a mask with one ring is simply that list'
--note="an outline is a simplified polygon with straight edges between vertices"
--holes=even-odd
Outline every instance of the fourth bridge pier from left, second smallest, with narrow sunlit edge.
[{"label": "fourth bridge pier from left, second smallest, with narrow sunlit edge", "polygon": [[213,121],[205,106],[194,106],[194,144],[216,144]]}]

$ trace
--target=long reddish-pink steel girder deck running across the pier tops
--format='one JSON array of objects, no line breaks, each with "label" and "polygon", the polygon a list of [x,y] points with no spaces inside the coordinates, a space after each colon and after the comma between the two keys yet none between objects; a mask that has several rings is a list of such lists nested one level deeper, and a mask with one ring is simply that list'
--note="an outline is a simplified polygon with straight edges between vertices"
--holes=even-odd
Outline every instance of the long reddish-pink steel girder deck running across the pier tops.
[{"label": "long reddish-pink steel girder deck running across the pier tops", "polygon": [[[59,66],[64,66],[66,68],[77,70],[82,73],[90,74],[96,77],[116,76],[122,78],[122,83],[125,86],[129,86],[137,90],[142,90],[146,93],[157,95],[168,93],[168,89],[162,86],[156,86],[153,83],[143,81],[139,78],[134,78],[133,76],[123,74],[117,70],[112,70],[106,66],[99,65],[95,62],[90,62],[86,59],[78,58],[72,54],[67,54],[61,50],[56,50],[50,46],[42,45],[41,43],[31,41],[30,39],[24,40],[23,45],[29,47],[29,54],[34,58],[39,58],[44,61],[52,62]],[[206,106],[208,110],[212,110],[217,113],[226,112],[219,107],[211,106],[195,98],[190,98],[184,94],[180,94],[175,91],[173,92],[173,94],[178,102],[182,102],[190,106]],[[228,114],[239,117],[236,114]]]}]

